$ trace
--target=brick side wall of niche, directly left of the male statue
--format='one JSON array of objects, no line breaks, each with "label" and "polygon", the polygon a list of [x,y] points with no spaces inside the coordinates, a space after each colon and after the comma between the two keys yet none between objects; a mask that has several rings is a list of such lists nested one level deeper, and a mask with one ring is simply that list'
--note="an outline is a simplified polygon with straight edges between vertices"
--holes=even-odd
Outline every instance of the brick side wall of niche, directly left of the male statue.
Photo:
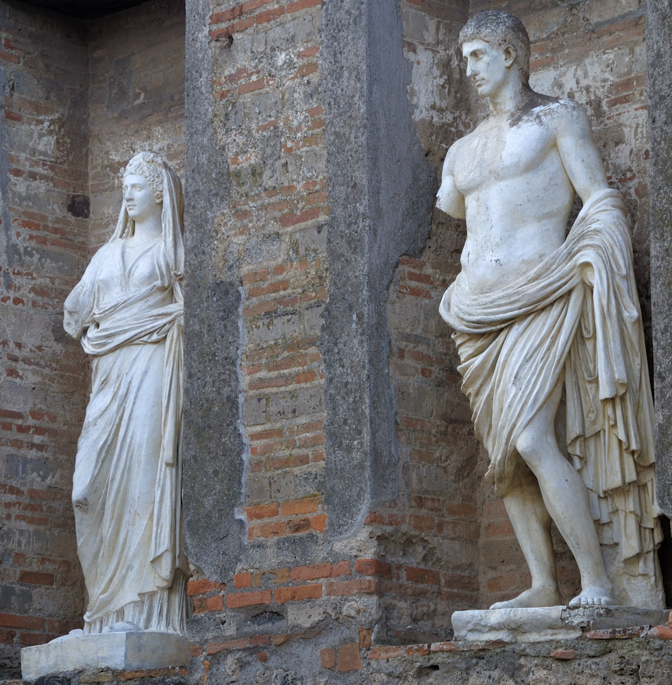
[{"label": "brick side wall of niche, directly left of the male statue", "polygon": [[[440,177],[447,147],[469,127],[457,35],[463,3],[402,0],[408,97],[425,156]],[[458,359],[438,302],[460,269],[464,225],[434,210],[418,256],[402,257],[390,286],[390,379],[395,387],[400,468],[396,501],[369,519],[392,580],[382,640],[439,640],[453,610],[478,602],[477,507],[482,459]],[[481,460],[480,460],[481,459]]]}]

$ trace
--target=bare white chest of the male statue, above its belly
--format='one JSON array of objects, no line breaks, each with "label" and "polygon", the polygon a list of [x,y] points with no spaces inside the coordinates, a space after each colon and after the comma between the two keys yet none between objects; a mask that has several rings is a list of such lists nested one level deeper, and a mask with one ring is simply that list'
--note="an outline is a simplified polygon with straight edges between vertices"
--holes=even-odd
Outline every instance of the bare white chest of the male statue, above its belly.
[{"label": "bare white chest of the male statue, above its belly", "polygon": [[561,164],[553,134],[535,121],[482,125],[458,145],[453,174],[464,197],[493,183],[534,175],[549,157]]}]

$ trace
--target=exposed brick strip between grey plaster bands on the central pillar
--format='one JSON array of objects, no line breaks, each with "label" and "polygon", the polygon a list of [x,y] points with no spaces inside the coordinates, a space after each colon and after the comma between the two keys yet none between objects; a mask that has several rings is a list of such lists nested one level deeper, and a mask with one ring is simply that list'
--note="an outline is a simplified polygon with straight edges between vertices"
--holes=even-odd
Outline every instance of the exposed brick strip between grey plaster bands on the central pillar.
[{"label": "exposed brick strip between grey plaster bands on the central pillar", "polygon": [[[317,334],[327,297],[329,206],[319,5],[216,5],[210,17],[213,97],[231,188],[216,269],[234,264],[242,282],[250,541],[319,534],[326,522]],[[269,51],[282,59],[269,60]]]}]

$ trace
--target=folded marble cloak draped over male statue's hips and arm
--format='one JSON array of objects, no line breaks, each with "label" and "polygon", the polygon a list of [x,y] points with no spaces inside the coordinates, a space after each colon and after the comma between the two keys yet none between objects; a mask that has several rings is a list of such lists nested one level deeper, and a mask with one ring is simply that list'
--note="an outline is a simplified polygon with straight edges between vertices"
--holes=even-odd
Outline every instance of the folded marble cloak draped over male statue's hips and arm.
[{"label": "folded marble cloak draped over male statue's hips and arm", "polygon": [[[592,267],[594,285],[584,281]],[[662,538],[656,516],[653,401],[632,245],[616,190],[591,197],[567,240],[501,290],[473,293],[463,273],[440,314],[455,329],[486,478],[506,494],[516,441],[558,382],[567,453],[582,476],[603,544],[619,543],[627,573]]]}]

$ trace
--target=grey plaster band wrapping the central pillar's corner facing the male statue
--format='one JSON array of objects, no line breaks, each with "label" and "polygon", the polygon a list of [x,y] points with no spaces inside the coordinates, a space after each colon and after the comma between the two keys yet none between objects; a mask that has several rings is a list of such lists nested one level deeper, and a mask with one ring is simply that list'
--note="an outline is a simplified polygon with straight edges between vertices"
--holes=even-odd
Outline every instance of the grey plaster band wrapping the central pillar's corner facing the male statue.
[{"label": "grey plaster band wrapping the central pillar's corner facing the male statue", "polygon": [[[385,302],[400,256],[419,251],[429,230],[434,175],[412,127],[410,69],[394,3],[347,0],[325,3],[323,12],[331,212],[320,347],[330,455],[327,525],[340,536],[397,493]],[[343,36],[349,36],[347,49]]]}]

